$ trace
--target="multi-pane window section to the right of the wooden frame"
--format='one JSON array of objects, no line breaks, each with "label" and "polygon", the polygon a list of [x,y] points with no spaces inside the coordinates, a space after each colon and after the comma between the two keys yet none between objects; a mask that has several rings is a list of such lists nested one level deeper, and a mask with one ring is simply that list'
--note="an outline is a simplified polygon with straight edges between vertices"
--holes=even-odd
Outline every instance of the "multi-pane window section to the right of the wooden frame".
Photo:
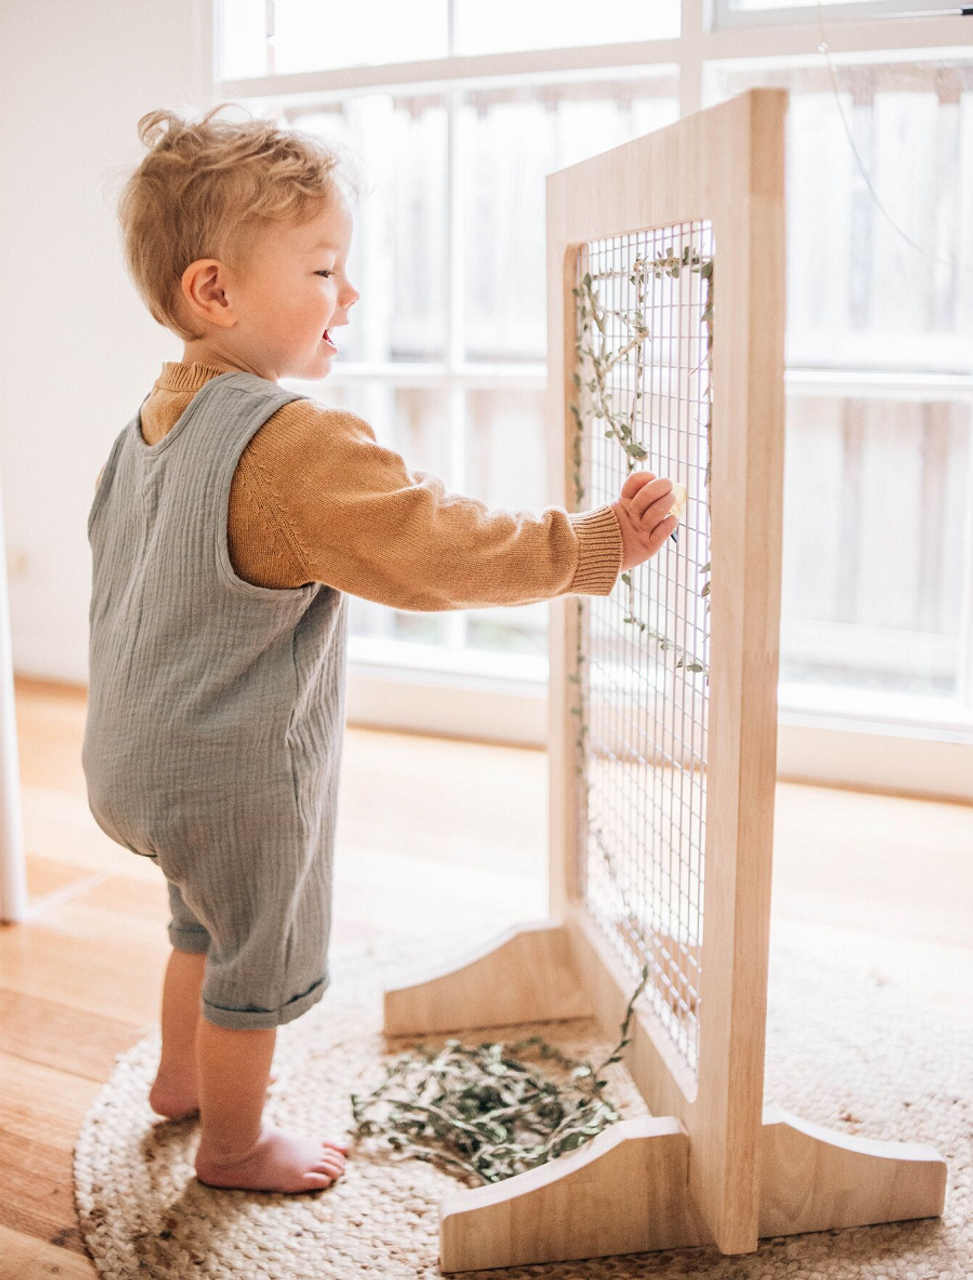
[{"label": "multi-pane window section to the right of the wooden frame", "polygon": [[955,714],[969,704],[973,59],[848,56],[833,82],[821,63],[704,73],[707,105],[790,91],[781,681],[799,705]]}]

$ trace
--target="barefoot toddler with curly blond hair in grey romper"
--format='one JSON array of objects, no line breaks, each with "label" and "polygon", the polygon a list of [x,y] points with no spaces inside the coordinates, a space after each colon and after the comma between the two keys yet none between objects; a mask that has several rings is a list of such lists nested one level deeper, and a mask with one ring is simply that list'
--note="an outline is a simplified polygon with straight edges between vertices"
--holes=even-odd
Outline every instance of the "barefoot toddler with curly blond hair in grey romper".
[{"label": "barefoot toddler with curly blond hair in grey romper", "polygon": [[608,595],[677,518],[650,472],[595,511],[489,511],[283,389],[326,378],[358,298],[346,175],[315,138],[220,110],[143,116],[119,200],[128,270],[184,349],[96,481],[82,763],[96,822],[169,895],[154,1111],[198,1108],[200,1181],[307,1192],[347,1144],[262,1108],[277,1028],[330,982],[348,595]]}]

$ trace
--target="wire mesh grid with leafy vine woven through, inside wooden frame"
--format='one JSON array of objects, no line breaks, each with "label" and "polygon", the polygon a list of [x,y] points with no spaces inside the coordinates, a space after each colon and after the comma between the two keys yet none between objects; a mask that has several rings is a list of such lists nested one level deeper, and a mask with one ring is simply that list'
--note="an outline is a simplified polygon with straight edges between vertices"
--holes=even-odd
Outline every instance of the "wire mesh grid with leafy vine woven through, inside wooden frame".
[{"label": "wire mesh grid with leafy vine woven through, inside wooden frame", "polygon": [[709,687],[713,233],[709,221],[581,246],[576,495],[632,471],[684,484],[677,540],[579,596],[575,883],[695,1076]]}]

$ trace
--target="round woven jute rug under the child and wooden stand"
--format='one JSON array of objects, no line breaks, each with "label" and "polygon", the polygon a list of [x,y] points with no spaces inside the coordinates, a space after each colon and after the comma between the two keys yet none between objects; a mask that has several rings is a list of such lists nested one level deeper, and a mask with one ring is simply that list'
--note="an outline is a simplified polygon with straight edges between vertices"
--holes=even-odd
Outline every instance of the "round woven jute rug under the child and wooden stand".
[{"label": "round woven jute rug under the child and wooden stand", "polygon": [[[320,1004],[278,1029],[265,1115],[307,1135],[352,1124],[350,1094],[384,1078],[383,1060],[447,1037],[387,1039],[382,992],[461,959],[469,937],[396,941],[332,952]],[[590,1021],[463,1032],[463,1043],[538,1033],[599,1065],[608,1041]],[[120,1055],[87,1112],[74,1152],[77,1211],[100,1276],[425,1280],[438,1263],[438,1206],[470,1185],[434,1165],[390,1156],[375,1138],[352,1146],[344,1175],[301,1194],[220,1190],[197,1181],[198,1120],[161,1121],[147,1094],[159,1064],[155,1030]],[[622,1115],[645,1114],[621,1066],[607,1096]],[[946,1208],[923,1219],[775,1236],[755,1253],[716,1248],[638,1253],[475,1272],[490,1280],[969,1280],[973,1276],[973,1028],[901,988],[818,955],[772,947],[766,1102],[867,1138],[933,1144],[949,1162]]]}]

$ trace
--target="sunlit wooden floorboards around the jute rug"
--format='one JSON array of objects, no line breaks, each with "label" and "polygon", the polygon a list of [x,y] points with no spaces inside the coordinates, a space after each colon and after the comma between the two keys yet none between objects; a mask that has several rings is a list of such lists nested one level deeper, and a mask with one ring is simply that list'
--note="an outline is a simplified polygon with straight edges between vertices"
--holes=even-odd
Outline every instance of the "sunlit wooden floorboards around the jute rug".
[{"label": "sunlit wooden floorboards around the jute rug", "polygon": [[[29,916],[0,925],[0,1280],[74,1280],[95,1270],[73,1146],[115,1059],[157,1027],[168,900],[88,810],[84,691],[15,689]],[[821,947],[973,1023],[970,849],[973,806],[780,783],[772,945]],[[472,947],[545,916],[544,753],[348,730],[333,945],[448,919]]]}]

